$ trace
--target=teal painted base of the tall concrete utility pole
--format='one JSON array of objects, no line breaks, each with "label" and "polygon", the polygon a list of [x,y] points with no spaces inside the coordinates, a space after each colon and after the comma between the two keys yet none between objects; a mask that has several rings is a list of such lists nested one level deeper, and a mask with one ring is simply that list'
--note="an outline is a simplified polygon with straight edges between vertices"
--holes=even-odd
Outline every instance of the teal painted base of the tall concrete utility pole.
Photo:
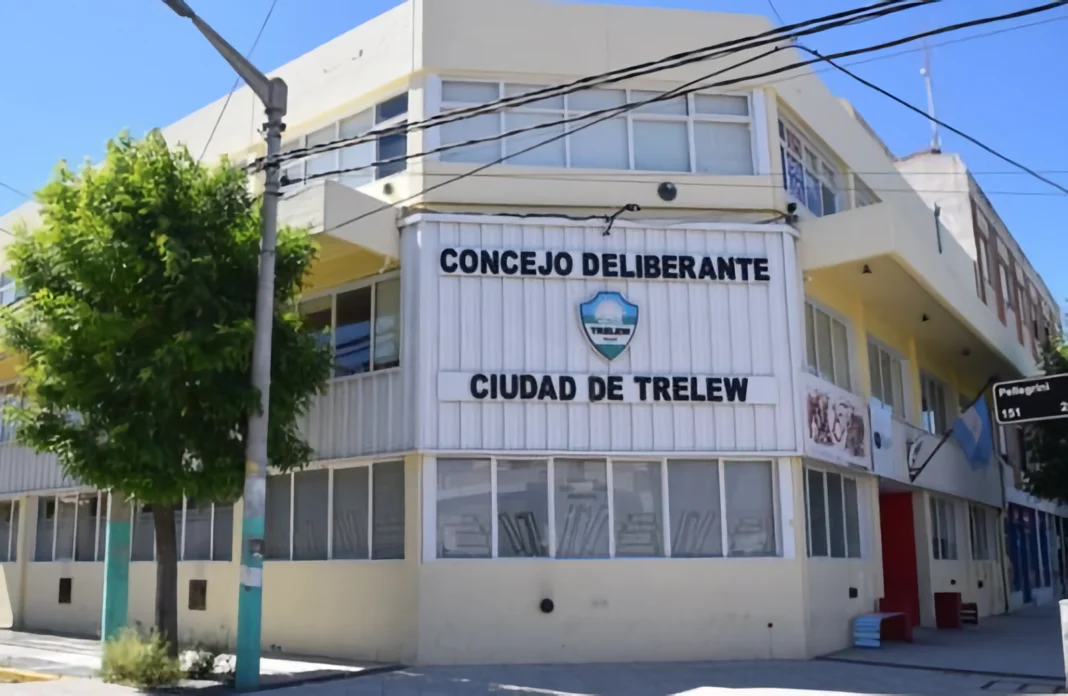
[{"label": "teal painted base of the tall concrete utility pole", "polygon": [[260,687],[260,619],[263,612],[264,519],[241,521],[241,570],[237,590],[237,651],[234,686],[238,691]]}]

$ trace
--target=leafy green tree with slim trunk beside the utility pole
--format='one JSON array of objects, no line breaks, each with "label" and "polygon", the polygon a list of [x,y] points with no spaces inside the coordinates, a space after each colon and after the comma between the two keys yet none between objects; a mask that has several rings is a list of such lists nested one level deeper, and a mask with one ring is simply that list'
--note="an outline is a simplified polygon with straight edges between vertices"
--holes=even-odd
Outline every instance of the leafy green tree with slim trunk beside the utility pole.
[{"label": "leafy green tree with slim trunk beside the utility pole", "polygon": [[[152,505],[156,626],[177,650],[175,510],[183,496],[233,501],[245,474],[258,203],[246,174],[200,165],[158,132],[121,135],[103,167],[61,162],[42,223],[6,248],[25,299],[0,316],[20,354],[19,442],[58,455],[78,480]],[[296,312],[316,250],[279,232],[268,452],[282,471],[311,449],[297,417],[330,357]]]}]

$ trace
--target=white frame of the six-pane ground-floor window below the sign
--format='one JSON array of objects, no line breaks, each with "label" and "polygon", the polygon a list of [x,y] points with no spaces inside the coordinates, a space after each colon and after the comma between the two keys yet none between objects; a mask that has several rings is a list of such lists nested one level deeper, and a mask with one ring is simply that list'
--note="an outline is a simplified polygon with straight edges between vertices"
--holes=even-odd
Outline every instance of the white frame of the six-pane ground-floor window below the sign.
[{"label": "white frame of the six-pane ground-floor window below the sign", "polygon": [[[438,490],[436,483],[436,472],[437,464],[442,460],[449,459],[465,459],[465,460],[478,460],[488,461],[490,464],[490,518],[491,518],[491,533],[489,539],[490,554],[488,556],[473,556],[473,557],[442,557],[439,554],[439,539],[438,539]],[[609,538],[609,551],[606,556],[596,557],[572,557],[572,556],[560,556],[557,555],[557,540],[556,540],[556,507],[555,507],[555,461],[556,460],[586,460],[604,463],[606,470],[606,481],[608,486],[608,538]],[[501,557],[499,555],[499,536],[500,536],[500,525],[498,524],[497,513],[498,513],[498,461],[539,461],[546,462],[548,468],[548,496],[547,504],[549,510],[548,518],[548,529],[547,535],[549,537],[549,551],[546,556],[517,556],[517,557]],[[670,464],[672,461],[684,461],[693,462],[702,461],[707,462],[710,465],[716,465],[718,468],[719,476],[719,515],[720,515],[720,541],[721,541],[721,553],[720,555],[682,555],[674,556],[672,555],[672,536],[671,536],[671,489],[670,489]],[[634,555],[618,555],[616,553],[616,529],[615,529],[615,487],[614,487],[614,464],[623,463],[656,463],[660,469],[660,511],[661,511],[661,533],[663,536],[662,540],[662,555],[658,556],[634,556]],[[771,496],[771,522],[772,522],[772,534],[771,543],[772,552],[756,554],[756,553],[732,553],[731,552],[731,531],[727,528],[728,519],[728,496],[726,492],[726,464],[728,463],[753,463],[753,464],[768,464],[770,466],[771,473],[771,490],[769,491]],[[434,460],[434,471],[431,474],[435,477],[435,484],[433,486],[427,486],[424,488],[423,505],[424,505],[424,527],[423,527],[423,561],[424,563],[487,563],[487,561],[536,561],[536,563],[566,563],[571,560],[599,560],[609,561],[615,560],[617,558],[633,559],[633,558],[656,558],[656,559],[680,559],[680,560],[709,560],[709,559],[738,559],[738,558],[783,558],[785,550],[783,523],[780,519],[782,513],[782,492],[780,490],[780,461],[775,457],[700,457],[700,456],[687,456],[687,453],[676,453],[671,457],[641,457],[641,456],[622,456],[622,457],[606,457],[606,456],[592,456],[585,455],[584,453],[576,453],[569,456],[545,456],[545,455],[485,455],[483,453],[474,455],[464,455],[460,453],[450,453],[449,456],[436,457]],[[426,474],[424,474],[424,477]],[[424,480],[429,480],[429,478],[424,478]],[[763,492],[761,492],[763,495]]]}]

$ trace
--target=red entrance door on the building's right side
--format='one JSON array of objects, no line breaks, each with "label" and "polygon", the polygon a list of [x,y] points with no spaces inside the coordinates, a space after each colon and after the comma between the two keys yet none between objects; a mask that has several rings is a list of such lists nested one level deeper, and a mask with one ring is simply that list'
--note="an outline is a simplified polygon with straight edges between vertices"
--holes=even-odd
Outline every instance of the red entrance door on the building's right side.
[{"label": "red entrance door on the building's right side", "polygon": [[912,528],[912,493],[879,494],[882,534],[882,611],[905,612],[920,626],[920,580],[916,537]]}]

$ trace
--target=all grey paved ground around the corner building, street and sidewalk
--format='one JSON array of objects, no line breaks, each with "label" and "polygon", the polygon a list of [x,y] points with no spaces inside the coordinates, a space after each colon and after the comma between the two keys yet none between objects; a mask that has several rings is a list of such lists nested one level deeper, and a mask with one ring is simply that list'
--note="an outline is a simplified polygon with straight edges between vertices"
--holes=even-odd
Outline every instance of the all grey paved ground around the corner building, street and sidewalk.
[{"label": "all grey paved ground around the corner building, street and sidewalk", "polygon": [[[961,631],[918,630],[912,645],[846,650],[807,662],[754,661],[405,668],[279,689],[279,696],[980,696],[1064,693],[1056,605],[984,619]],[[67,676],[98,665],[92,640],[0,631],[0,664]],[[268,659],[290,680],[365,666]],[[277,685],[277,682],[276,682]],[[68,678],[5,685],[3,696],[109,696],[134,690]]]}]

